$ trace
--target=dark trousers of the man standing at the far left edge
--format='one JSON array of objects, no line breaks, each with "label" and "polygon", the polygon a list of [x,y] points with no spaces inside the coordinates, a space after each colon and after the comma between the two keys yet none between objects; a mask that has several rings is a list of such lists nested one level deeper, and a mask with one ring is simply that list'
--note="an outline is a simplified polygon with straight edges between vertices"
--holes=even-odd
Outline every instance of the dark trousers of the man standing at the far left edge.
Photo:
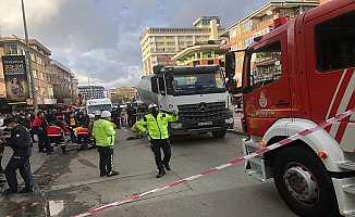
[{"label": "dark trousers of the man standing at the far left edge", "polygon": [[34,179],[30,171],[30,164],[29,157],[20,157],[20,156],[12,156],[8,163],[5,168],[5,177],[8,181],[8,186],[11,190],[17,191],[17,178],[16,178],[16,170],[20,170],[20,175],[25,181],[26,189],[34,188]]}]

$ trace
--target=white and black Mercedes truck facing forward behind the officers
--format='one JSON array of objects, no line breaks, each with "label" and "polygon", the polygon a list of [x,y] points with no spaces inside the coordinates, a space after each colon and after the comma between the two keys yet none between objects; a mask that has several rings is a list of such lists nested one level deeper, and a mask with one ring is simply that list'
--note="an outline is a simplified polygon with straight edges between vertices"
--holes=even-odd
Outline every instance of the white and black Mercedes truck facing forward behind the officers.
[{"label": "white and black Mercedes truck facing forward behind the officers", "polygon": [[156,68],[154,75],[143,78],[139,95],[161,111],[178,112],[179,122],[170,126],[173,136],[211,132],[223,138],[233,127],[231,100],[219,66]]}]

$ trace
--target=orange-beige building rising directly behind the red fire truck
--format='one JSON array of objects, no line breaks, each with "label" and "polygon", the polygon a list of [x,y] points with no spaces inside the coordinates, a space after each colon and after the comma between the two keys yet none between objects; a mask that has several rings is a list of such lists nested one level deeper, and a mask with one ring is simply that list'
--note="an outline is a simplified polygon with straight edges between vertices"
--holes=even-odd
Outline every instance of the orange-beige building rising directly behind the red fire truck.
[{"label": "orange-beige building rising directly behind the red fire truck", "polygon": [[[280,18],[294,18],[301,13],[319,5],[319,0],[271,0],[246,17],[235,22],[220,33],[221,37],[229,37],[224,48],[242,50],[248,47],[255,37],[262,36],[274,27]],[[242,85],[243,52],[235,53],[235,78],[237,86]]]}]

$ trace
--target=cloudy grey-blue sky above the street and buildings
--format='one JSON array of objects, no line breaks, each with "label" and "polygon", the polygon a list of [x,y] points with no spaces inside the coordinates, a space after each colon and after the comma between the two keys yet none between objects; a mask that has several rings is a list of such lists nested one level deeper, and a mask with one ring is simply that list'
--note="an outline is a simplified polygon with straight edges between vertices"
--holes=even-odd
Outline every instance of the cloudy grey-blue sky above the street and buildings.
[{"label": "cloudy grey-blue sky above the street and buildings", "polygon": [[[87,76],[107,88],[135,86],[146,27],[191,26],[218,15],[223,27],[266,0],[25,0],[28,34],[70,67],[81,84]],[[0,0],[1,35],[23,37],[20,0]]]}]

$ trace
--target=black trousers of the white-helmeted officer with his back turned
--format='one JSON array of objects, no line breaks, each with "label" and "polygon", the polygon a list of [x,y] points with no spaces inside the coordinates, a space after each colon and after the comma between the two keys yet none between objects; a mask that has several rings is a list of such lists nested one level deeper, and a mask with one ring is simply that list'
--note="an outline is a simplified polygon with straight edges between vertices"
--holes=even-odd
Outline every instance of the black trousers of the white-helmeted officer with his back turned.
[{"label": "black trousers of the white-helmeted officer with his back turned", "polygon": [[97,146],[97,151],[100,175],[108,175],[113,169],[113,146]]}]

